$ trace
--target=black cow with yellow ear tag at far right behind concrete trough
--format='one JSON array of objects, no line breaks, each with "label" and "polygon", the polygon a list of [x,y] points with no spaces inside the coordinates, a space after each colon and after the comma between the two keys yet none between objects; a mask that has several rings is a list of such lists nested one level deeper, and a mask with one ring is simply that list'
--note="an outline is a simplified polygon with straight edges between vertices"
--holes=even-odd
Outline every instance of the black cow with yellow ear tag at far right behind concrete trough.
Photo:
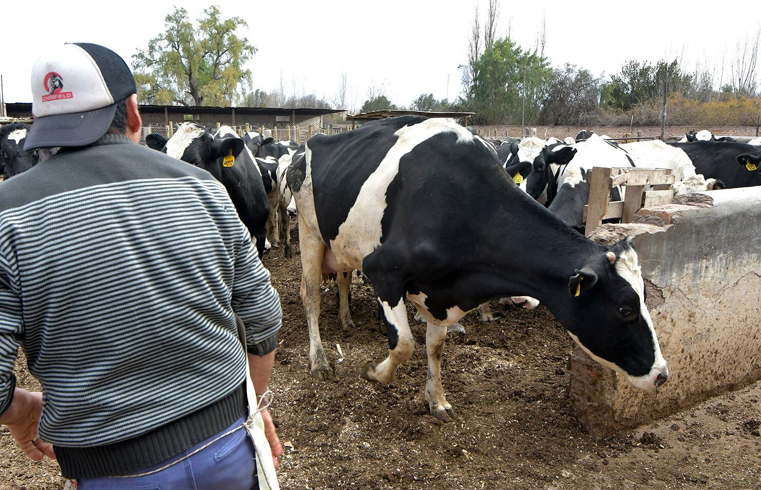
[{"label": "black cow with yellow ear tag at far right behind concrete trough", "polygon": [[761,148],[740,142],[699,141],[670,143],[683,150],[706,178],[720,180],[724,187],[761,186]]}]

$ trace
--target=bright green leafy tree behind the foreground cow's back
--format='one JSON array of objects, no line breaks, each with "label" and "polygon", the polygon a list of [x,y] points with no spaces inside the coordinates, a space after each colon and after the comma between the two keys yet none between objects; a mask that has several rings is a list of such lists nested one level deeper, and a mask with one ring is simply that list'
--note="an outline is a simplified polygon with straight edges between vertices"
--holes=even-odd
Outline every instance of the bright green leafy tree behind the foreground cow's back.
[{"label": "bright green leafy tree behind the foreground cow's back", "polygon": [[524,51],[510,39],[496,40],[473,64],[473,82],[460,105],[476,113],[475,123],[520,122],[525,89],[526,121],[534,121],[551,77],[546,58]]}]

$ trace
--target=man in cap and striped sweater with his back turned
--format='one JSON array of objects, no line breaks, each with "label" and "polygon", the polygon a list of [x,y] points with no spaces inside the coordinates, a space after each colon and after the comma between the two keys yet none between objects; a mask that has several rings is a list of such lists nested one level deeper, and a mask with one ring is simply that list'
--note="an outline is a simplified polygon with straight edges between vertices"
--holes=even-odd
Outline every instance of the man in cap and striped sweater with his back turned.
[{"label": "man in cap and striped sweater with his back turned", "polygon": [[[0,187],[0,424],[80,489],[256,488],[236,317],[262,395],[282,311],[228,193],[136,144],[110,49],[56,46],[31,83],[24,149],[62,148]],[[19,345],[42,393],[15,388]]]}]

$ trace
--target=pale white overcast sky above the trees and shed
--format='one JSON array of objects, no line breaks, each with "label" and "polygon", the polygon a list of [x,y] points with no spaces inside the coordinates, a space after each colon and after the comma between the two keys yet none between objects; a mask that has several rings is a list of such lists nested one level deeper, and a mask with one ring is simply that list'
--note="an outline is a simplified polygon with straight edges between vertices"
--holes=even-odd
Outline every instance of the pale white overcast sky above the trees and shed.
[{"label": "pale white overcast sky above the trees and shed", "polygon": [[[129,62],[164,27],[174,5],[198,18],[199,2],[3,2],[0,73],[6,102],[29,102],[29,75],[46,46],[91,42]],[[400,105],[422,93],[450,99],[460,93],[460,69],[473,10],[487,0],[361,0],[329,2],[216,2],[224,17],[247,21],[242,32],[258,49],[249,68],[254,87],[271,91],[281,73],[286,94],[314,92],[330,100],[346,73],[350,104],[361,105],[368,86],[385,87]],[[582,5],[581,8],[578,5]],[[546,56],[554,66],[572,62],[607,75],[629,59],[680,57],[729,64],[737,41],[759,27],[753,2],[501,2],[499,36],[533,47],[546,13]],[[632,5],[632,4],[629,4]],[[448,78],[448,91],[447,91]],[[717,72],[718,78],[718,72]],[[726,80],[727,75],[724,74]]]}]

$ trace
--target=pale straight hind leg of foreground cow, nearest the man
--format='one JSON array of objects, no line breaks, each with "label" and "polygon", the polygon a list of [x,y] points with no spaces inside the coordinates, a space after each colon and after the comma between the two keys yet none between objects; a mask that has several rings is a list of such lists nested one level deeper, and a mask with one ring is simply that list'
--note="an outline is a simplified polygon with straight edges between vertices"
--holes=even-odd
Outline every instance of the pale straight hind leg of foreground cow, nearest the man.
[{"label": "pale straight hind leg of foreground cow, nearest the man", "polygon": [[320,283],[322,282],[323,253],[325,243],[306,226],[299,224],[298,236],[301,242],[301,301],[309,327],[310,373],[318,380],[333,377],[320,339]]}]

